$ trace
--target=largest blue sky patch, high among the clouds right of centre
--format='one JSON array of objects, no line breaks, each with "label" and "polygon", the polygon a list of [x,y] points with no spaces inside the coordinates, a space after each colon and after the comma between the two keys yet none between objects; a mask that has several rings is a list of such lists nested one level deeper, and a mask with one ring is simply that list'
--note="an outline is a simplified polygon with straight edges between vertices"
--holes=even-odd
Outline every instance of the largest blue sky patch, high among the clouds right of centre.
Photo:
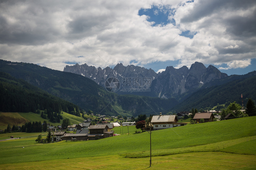
[{"label": "largest blue sky patch, high among the clouds right of centre", "polygon": [[138,15],[149,16],[147,21],[154,22],[152,26],[166,25],[168,23],[172,23],[173,25],[175,25],[174,19],[168,20],[169,15],[174,15],[174,9],[170,9],[166,6],[158,7],[158,6],[152,5],[152,7],[148,9],[141,8],[139,10]]}]

